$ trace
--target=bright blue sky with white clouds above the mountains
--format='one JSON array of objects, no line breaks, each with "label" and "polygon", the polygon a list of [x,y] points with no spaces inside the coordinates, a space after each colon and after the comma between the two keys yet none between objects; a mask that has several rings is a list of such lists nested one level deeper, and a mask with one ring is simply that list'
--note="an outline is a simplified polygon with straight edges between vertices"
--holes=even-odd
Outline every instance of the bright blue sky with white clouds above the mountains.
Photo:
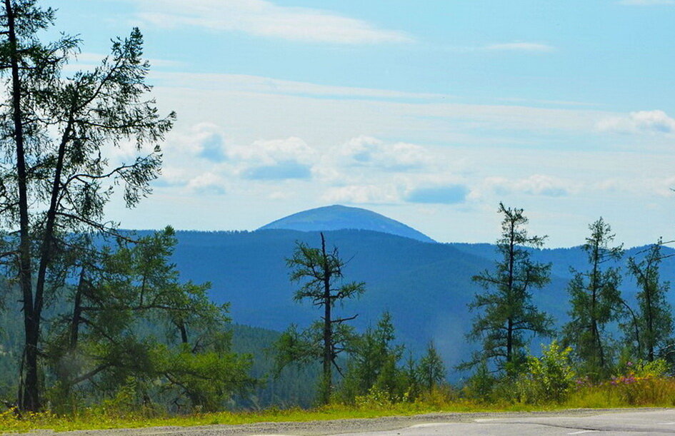
[{"label": "bright blue sky with white clouds above the mountains", "polygon": [[111,208],[125,227],[254,229],[341,203],[484,242],[504,201],[552,246],[599,216],[628,245],[672,238],[675,1],[46,4],[84,39],[72,69],[139,26],[178,112],[153,196]]}]

